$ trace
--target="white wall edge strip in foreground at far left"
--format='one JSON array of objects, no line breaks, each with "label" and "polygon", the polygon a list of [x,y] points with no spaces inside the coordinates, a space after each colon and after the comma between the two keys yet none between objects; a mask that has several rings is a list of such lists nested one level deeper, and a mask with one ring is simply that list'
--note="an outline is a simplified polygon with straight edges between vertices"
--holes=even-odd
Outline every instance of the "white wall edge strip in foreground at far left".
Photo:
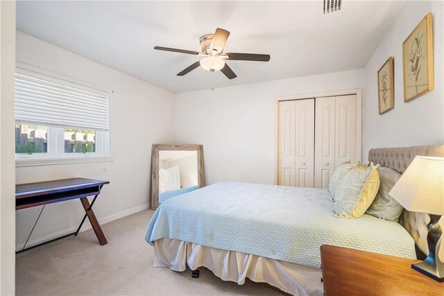
[{"label": "white wall edge strip in foreground at far left", "polygon": [[0,295],[15,293],[15,1],[0,1]]}]

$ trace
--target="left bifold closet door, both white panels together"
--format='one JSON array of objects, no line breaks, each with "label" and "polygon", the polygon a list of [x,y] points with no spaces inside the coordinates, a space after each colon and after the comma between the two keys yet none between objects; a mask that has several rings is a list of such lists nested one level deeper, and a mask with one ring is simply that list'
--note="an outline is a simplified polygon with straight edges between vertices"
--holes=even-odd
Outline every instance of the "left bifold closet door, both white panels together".
[{"label": "left bifold closet door, both white panels together", "polygon": [[314,99],[279,103],[278,184],[314,186]]}]

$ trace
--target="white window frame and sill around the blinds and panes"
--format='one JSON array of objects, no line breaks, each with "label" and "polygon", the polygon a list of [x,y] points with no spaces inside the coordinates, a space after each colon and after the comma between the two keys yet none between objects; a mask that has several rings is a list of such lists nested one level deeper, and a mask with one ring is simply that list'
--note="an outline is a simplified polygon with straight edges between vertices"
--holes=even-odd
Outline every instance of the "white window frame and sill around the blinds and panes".
[{"label": "white window frame and sill around the blinds and panes", "polygon": [[[65,128],[48,126],[48,150],[46,153],[15,153],[15,166],[44,166],[53,164],[78,164],[87,162],[112,162],[112,96],[114,91],[108,87],[94,85],[60,73],[55,73],[23,62],[16,62],[16,73],[19,69],[33,71],[37,74],[65,80],[83,87],[98,89],[108,95],[108,132],[96,131],[96,151],[94,153],[65,153]],[[15,121],[17,123],[17,121]],[[26,124],[26,123],[23,123]],[[35,123],[30,123],[35,125]],[[42,125],[46,126],[46,125]],[[69,127],[66,127],[69,128]],[[106,143],[108,142],[108,147]]]}]

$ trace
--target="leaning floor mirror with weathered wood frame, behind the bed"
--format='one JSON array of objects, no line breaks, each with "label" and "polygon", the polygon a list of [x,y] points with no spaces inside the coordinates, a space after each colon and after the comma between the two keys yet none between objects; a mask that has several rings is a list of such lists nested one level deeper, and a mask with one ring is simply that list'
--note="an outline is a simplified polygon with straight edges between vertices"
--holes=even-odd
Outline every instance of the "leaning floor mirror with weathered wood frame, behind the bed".
[{"label": "leaning floor mirror with weathered wood frame, behind the bed", "polygon": [[203,187],[202,145],[154,144],[151,153],[151,209]]}]

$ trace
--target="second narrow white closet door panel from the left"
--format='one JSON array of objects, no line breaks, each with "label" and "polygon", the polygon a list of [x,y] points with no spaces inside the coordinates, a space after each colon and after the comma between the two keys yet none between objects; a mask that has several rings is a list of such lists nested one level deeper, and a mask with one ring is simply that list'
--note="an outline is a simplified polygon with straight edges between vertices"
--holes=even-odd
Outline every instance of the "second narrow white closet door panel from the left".
[{"label": "second narrow white closet door panel from the left", "polygon": [[296,186],[314,187],[314,98],[296,101]]}]

